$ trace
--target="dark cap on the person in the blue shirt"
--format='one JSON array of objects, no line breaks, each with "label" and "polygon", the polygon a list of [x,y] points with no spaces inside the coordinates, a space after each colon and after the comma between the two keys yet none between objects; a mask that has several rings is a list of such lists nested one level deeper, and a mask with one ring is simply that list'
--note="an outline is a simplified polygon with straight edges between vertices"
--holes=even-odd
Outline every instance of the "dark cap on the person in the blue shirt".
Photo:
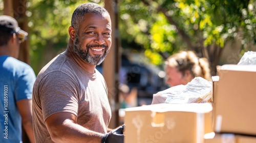
[{"label": "dark cap on the person in the blue shirt", "polygon": [[27,38],[28,33],[18,27],[18,22],[11,16],[1,15],[0,16],[0,31],[3,32],[14,32],[18,37]]}]

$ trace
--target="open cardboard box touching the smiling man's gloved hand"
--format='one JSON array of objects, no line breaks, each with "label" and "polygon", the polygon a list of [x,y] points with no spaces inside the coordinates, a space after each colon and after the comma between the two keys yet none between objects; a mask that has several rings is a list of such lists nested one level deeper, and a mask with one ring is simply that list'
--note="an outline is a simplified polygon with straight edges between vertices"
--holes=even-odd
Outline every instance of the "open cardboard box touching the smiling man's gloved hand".
[{"label": "open cardboard box touching the smiling man's gloved hand", "polygon": [[126,108],[124,143],[203,142],[212,132],[210,103],[154,104]]}]

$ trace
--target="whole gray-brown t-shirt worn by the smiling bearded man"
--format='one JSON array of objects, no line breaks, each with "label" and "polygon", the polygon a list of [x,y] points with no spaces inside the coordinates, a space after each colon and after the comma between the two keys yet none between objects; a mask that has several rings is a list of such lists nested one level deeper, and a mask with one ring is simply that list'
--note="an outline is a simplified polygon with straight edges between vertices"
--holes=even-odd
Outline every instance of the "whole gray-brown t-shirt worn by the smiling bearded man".
[{"label": "whole gray-brown t-shirt worn by the smiling bearded man", "polygon": [[111,119],[108,89],[103,76],[83,70],[64,54],[56,56],[38,74],[33,87],[33,129],[36,142],[53,142],[46,128],[48,116],[70,112],[77,124],[106,133]]}]

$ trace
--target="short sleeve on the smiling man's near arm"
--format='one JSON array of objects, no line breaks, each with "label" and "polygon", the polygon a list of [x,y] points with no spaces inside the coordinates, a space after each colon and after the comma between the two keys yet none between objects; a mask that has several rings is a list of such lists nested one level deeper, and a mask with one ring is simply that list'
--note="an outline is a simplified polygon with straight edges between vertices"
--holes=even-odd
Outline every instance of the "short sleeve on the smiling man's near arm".
[{"label": "short sleeve on the smiling man's near arm", "polygon": [[49,73],[40,82],[39,97],[42,114],[46,118],[58,112],[70,112],[77,116],[78,84],[61,71]]}]

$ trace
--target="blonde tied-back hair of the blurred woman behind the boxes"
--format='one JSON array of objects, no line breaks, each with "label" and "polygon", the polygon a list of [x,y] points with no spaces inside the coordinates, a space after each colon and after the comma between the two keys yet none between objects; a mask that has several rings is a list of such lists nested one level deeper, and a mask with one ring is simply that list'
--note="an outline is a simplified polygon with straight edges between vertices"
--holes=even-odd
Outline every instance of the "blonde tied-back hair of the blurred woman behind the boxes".
[{"label": "blonde tied-back hair of the blurred woman behind the boxes", "polygon": [[211,79],[209,62],[206,58],[197,57],[194,51],[181,51],[168,57],[165,61],[166,66],[176,67],[184,76],[185,71],[189,70],[191,75],[202,77],[206,80]]}]

